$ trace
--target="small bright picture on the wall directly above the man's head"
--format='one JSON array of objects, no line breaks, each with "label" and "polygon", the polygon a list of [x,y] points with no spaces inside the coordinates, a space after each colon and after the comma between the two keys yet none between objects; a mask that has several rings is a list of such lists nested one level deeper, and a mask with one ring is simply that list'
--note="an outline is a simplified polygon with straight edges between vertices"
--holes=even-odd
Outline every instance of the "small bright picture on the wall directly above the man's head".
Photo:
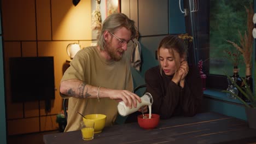
[{"label": "small bright picture on the wall directly above the man's head", "polygon": [[120,13],[120,0],[106,0],[106,17],[113,13]]}]

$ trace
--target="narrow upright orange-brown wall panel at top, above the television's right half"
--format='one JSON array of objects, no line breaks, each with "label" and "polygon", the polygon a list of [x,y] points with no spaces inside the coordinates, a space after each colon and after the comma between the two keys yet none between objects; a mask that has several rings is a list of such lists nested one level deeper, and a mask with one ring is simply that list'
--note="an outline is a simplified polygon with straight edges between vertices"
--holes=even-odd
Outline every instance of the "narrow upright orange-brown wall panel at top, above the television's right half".
[{"label": "narrow upright orange-brown wall panel at top, above the television's right half", "polygon": [[51,40],[50,1],[37,0],[37,39]]}]

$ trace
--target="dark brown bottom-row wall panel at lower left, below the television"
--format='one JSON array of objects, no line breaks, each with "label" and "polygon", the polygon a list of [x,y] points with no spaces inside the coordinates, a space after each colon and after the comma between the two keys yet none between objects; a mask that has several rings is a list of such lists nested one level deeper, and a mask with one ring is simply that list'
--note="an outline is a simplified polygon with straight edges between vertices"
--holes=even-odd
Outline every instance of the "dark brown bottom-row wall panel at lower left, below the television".
[{"label": "dark brown bottom-row wall panel at lower left, below the television", "polygon": [[34,133],[39,131],[39,117],[9,120],[7,125],[8,135]]}]

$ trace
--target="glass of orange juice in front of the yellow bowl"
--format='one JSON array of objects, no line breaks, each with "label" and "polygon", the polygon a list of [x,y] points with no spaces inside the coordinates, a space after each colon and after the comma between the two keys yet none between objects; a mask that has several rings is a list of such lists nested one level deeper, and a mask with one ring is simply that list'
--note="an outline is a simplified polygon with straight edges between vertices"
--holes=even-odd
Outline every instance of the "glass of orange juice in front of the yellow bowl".
[{"label": "glass of orange juice in front of the yellow bowl", "polygon": [[83,140],[94,139],[94,122],[81,122],[80,129],[82,131]]}]

